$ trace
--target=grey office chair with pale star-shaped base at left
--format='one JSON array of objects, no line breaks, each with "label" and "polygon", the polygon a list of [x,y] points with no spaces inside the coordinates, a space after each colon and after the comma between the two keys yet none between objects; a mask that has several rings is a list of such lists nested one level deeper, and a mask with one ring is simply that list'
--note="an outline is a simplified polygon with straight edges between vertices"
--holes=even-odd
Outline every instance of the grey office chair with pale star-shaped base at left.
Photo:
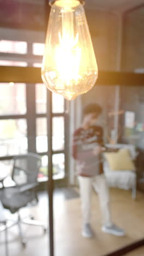
[{"label": "grey office chair with pale star-shaped base at left", "polygon": [[[38,172],[41,165],[41,158],[37,154],[28,153],[14,157],[14,165],[12,171],[12,179],[15,182],[15,187],[3,188],[1,190],[1,202],[4,208],[11,213],[17,212],[17,220],[7,224],[7,228],[18,225],[20,238],[23,247],[26,246],[26,238],[23,236],[21,224],[29,224],[41,226],[46,232],[46,226],[31,218],[21,218],[20,209],[29,205],[29,203],[38,202],[36,188],[39,185],[37,182]],[[0,228],[3,231],[5,228]]]}]

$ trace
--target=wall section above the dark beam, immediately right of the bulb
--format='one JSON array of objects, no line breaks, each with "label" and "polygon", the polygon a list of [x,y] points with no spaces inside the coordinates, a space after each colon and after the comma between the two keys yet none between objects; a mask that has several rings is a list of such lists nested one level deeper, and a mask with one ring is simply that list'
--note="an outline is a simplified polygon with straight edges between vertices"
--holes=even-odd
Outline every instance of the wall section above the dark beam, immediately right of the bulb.
[{"label": "wall section above the dark beam, immediately right of the bulb", "polygon": [[117,62],[117,15],[108,11],[86,10],[99,70],[115,70]]}]

